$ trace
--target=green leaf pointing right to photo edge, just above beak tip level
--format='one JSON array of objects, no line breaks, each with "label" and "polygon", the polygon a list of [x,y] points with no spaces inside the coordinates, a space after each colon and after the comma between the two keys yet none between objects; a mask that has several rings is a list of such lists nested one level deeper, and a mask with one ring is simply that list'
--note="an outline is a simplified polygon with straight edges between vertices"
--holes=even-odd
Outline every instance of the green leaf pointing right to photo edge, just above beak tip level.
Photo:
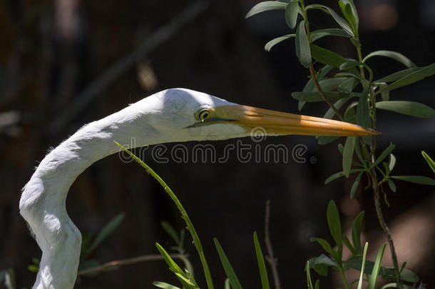
[{"label": "green leaf pointing right to photo edge, just above beak tip level", "polygon": [[379,101],[376,103],[376,108],[419,118],[435,117],[435,110],[433,108],[415,101]]}]

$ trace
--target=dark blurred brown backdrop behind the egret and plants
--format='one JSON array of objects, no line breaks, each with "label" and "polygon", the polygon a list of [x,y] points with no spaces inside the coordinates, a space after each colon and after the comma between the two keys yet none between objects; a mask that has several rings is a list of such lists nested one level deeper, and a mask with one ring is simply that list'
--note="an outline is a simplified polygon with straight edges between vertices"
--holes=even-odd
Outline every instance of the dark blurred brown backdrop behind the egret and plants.
[{"label": "dark blurred brown backdrop behind the egret and plants", "polygon": [[[258,1],[0,1],[0,269],[14,268],[18,288],[30,287],[35,274],[27,266],[40,250],[19,216],[20,190],[51,146],[80,128],[157,91],[192,88],[229,101],[297,113],[290,94],[301,91],[307,70],[295,57],[294,41],[270,53],[265,42],[291,33],[283,11],[245,19]],[[338,9],[337,1],[322,1]],[[435,1],[355,0],[360,14],[363,54],[399,51],[417,66],[435,62]],[[183,11],[188,11],[186,14]],[[323,14],[312,14],[313,28],[336,27]],[[174,22],[175,21],[175,22]],[[161,30],[163,28],[163,30]],[[322,46],[355,56],[349,41],[325,38]],[[389,59],[374,59],[376,77],[398,69]],[[415,100],[435,107],[435,78],[391,93],[394,100]],[[302,113],[323,116],[327,106],[312,103]],[[379,148],[396,144],[396,174],[431,176],[421,158],[435,156],[435,120],[379,111]],[[342,141],[342,140],[340,140]],[[250,139],[244,143],[252,143]],[[214,142],[217,151],[232,141]],[[386,243],[377,223],[372,196],[363,191],[349,200],[353,178],[327,186],[341,170],[337,142],[319,146],[314,137],[267,138],[267,143],[307,147],[305,163],[156,163],[143,158],[175,191],[205,246],[215,283],[225,273],[213,245],[220,240],[245,288],[258,288],[252,232],[264,238],[265,201],[271,201],[270,238],[278,258],[282,288],[305,287],[305,261],[322,252],[309,237],[332,240],[327,231],[330,199],[339,206],[343,226],[366,211],[364,239],[374,259]],[[190,143],[188,146],[193,146]],[[173,146],[173,145],[170,145]],[[169,147],[170,147],[169,146]],[[397,182],[387,193],[384,214],[392,230],[399,263],[435,288],[434,188]],[[387,190],[388,191],[388,190]],[[157,253],[154,243],[172,245],[160,227],[168,220],[184,225],[156,181],[117,155],[88,168],[71,187],[68,214],[83,233],[96,233],[116,214],[126,218],[93,254],[101,262]],[[264,243],[262,243],[264,246]],[[188,253],[199,278],[193,245]],[[386,251],[384,265],[391,265]],[[154,280],[175,283],[162,261],[138,263],[81,278],[76,288],[151,288]],[[322,288],[340,285],[339,277],[321,278]],[[0,285],[1,287],[1,285]]]}]

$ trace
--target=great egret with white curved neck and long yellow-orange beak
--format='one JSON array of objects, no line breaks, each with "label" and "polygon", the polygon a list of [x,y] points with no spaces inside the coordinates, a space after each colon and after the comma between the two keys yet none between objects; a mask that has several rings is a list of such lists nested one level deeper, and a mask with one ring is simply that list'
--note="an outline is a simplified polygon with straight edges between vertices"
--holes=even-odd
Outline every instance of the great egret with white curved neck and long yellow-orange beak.
[{"label": "great egret with white curved neck and long yellow-orange beak", "polygon": [[81,233],[66,213],[68,189],[92,163],[118,152],[119,143],[224,140],[270,135],[365,136],[377,134],[351,123],[241,106],[206,93],[173,88],[133,103],[80,128],[50,151],[23,188],[21,216],[42,250],[33,288],[68,289],[76,281]]}]

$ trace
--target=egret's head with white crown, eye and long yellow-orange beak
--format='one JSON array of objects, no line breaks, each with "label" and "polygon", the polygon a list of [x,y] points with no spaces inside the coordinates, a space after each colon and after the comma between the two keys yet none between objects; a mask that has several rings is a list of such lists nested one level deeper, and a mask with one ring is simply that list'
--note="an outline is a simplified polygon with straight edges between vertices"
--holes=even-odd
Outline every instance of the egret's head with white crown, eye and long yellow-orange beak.
[{"label": "egret's head with white crown, eye and long yellow-orange beak", "polygon": [[[153,103],[147,122],[173,141],[222,140],[252,136],[262,131],[271,136],[369,136],[369,128],[327,118],[301,116],[243,106],[207,93],[171,88],[143,101]],[[140,102],[139,102],[140,103]]]}]

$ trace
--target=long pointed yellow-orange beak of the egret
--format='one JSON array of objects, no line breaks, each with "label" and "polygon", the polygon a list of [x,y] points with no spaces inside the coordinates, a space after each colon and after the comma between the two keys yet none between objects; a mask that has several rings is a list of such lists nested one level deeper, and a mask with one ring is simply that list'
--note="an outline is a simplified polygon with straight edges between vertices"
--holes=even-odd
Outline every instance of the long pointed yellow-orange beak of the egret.
[{"label": "long pointed yellow-orange beak of the egret", "polygon": [[343,121],[270,111],[252,106],[221,106],[215,112],[221,120],[217,122],[234,123],[249,130],[260,127],[267,134],[272,135],[376,136],[379,134],[370,128]]}]

